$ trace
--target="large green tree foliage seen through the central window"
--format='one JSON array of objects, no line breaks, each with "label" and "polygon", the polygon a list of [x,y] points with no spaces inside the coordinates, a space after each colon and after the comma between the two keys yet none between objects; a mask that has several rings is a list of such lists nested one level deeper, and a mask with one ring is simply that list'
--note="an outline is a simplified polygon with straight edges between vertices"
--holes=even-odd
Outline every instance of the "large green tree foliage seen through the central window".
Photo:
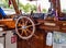
[{"label": "large green tree foliage seen through the central window", "polygon": [[34,4],[30,4],[26,3],[25,5],[22,3],[19,3],[19,7],[22,11],[24,11],[25,13],[31,12],[31,10],[33,10],[34,12],[36,11],[36,5]]}]

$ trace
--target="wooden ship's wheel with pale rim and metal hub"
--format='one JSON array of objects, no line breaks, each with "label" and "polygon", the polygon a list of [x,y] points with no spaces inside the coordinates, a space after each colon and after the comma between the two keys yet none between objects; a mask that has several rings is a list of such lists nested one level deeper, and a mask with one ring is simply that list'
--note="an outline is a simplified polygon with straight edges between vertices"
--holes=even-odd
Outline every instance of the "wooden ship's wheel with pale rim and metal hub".
[{"label": "wooden ship's wheel with pale rim and metal hub", "polygon": [[29,39],[35,32],[35,25],[30,17],[20,16],[15,23],[15,31],[20,38]]}]

